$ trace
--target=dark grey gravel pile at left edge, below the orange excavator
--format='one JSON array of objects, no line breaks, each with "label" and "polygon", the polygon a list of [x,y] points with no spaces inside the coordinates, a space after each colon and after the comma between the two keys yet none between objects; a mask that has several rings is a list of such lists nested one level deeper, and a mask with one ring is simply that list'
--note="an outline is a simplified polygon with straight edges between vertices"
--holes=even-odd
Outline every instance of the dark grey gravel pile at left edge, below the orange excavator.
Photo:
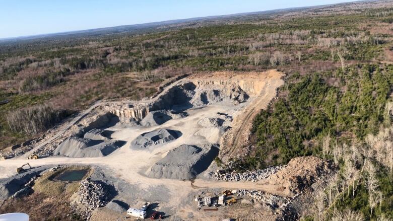
[{"label": "dark grey gravel pile at left edge, below the orange excavator", "polygon": [[25,187],[33,177],[41,175],[49,167],[41,166],[27,169],[13,177],[0,179],[0,200],[5,200]]}]

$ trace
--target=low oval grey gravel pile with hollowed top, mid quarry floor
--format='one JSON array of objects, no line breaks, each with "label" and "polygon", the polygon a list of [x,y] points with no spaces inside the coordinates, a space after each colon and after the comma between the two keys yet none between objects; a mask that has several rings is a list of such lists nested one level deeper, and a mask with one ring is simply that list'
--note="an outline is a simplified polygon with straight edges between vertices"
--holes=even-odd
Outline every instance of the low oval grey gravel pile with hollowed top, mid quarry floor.
[{"label": "low oval grey gravel pile with hollowed top, mid quarry floor", "polygon": [[163,144],[175,140],[181,136],[180,131],[169,130],[169,129],[159,129],[153,130],[147,133],[143,133],[135,138],[131,144],[130,148],[135,150],[149,148],[153,145]]}]

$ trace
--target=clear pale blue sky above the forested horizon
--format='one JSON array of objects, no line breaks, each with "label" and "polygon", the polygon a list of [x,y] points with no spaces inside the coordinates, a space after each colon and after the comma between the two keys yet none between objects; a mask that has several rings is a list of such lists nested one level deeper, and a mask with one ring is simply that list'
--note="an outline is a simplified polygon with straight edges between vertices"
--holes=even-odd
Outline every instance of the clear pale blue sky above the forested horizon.
[{"label": "clear pale blue sky above the forested horizon", "polygon": [[0,39],[350,0],[0,0]]}]

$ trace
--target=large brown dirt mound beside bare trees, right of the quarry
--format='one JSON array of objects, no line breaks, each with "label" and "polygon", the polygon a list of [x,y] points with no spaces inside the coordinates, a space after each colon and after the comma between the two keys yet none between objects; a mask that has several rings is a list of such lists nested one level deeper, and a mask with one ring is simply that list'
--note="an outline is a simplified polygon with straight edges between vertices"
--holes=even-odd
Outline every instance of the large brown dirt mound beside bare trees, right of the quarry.
[{"label": "large brown dirt mound beside bare trees, right of the quarry", "polygon": [[334,171],[333,165],[317,157],[297,157],[287,167],[271,175],[265,184],[277,191],[293,195],[309,188],[314,182]]}]

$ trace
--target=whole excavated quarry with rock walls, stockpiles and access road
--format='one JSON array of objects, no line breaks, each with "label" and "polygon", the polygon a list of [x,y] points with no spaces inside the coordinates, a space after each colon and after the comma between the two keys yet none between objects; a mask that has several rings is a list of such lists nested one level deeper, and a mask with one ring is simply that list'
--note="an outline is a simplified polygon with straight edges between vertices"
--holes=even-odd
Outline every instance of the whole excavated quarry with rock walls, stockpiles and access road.
[{"label": "whole excavated quarry with rock walls, stockpiles and access road", "polygon": [[[190,198],[205,188],[262,190],[292,197],[316,179],[310,177],[321,175],[317,171],[322,163],[303,159],[297,167],[288,166],[258,182],[221,182],[202,173],[217,156],[216,145],[225,158],[243,152],[253,116],[276,96],[283,76],[276,70],[201,73],[174,81],[154,98],[98,102],[47,134],[23,157],[0,161],[0,178],[13,177],[15,168],[26,162],[33,167],[94,165],[105,168],[102,173],[118,192],[114,200],[121,205],[156,202],[155,210],[184,220],[190,219],[188,212],[194,220],[206,218],[195,211]],[[26,160],[32,153],[46,158]],[[310,169],[299,170],[302,165]],[[210,167],[207,171],[215,163]],[[109,207],[123,211],[118,201]],[[92,220],[109,213],[106,207],[98,209]]]}]

